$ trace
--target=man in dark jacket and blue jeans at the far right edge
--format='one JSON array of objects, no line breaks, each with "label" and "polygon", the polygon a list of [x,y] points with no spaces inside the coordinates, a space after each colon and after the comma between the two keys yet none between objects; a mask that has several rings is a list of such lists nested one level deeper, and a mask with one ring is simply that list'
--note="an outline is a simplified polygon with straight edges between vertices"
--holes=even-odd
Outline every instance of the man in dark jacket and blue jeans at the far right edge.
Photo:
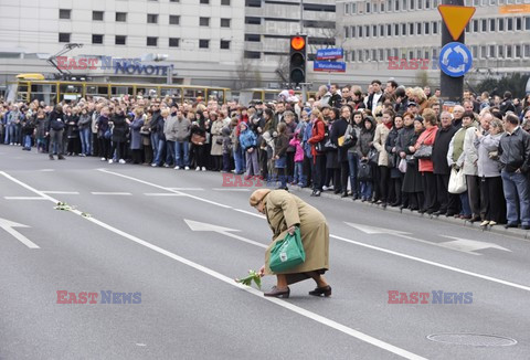
[{"label": "man in dark jacket and blue jeans at the far right edge", "polygon": [[[530,134],[519,126],[519,118],[513,113],[505,116],[505,130],[500,138],[499,156],[508,212],[506,227],[517,227],[520,220],[521,227],[529,230],[530,191],[527,173],[530,167]],[[519,199],[519,209],[517,199]]]}]

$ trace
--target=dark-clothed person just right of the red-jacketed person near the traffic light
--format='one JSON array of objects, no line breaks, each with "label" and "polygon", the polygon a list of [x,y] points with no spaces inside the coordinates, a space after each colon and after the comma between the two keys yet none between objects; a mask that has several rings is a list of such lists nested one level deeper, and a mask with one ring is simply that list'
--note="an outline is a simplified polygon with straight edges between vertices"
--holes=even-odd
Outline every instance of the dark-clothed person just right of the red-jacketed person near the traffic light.
[{"label": "dark-clothed person just right of the red-jacketed person near the traffic light", "polygon": [[333,123],[330,139],[338,148],[338,160],[340,166],[340,177],[333,180],[335,193],[342,192],[342,198],[348,197],[348,178],[350,176],[350,166],[348,163],[348,149],[339,146],[339,138],[346,135],[346,129],[351,121],[351,108],[349,105],[340,109],[340,118]]}]

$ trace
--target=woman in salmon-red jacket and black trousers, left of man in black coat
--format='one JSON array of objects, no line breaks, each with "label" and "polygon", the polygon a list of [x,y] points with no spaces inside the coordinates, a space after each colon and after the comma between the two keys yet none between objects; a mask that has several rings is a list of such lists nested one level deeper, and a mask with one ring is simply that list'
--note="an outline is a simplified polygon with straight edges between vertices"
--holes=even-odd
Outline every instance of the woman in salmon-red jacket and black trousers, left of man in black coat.
[{"label": "woman in salmon-red jacket and black trousers, left of man in black coat", "polygon": [[[433,147],[436,133],[438,131],[436,113],[433,109],[423,110],[423,125],[425,125],[425,131],[417,138],[414,146],[415,151],[421,147]],[[434,166],[431,157],[418,159],[418,170],[422,173],[423,193],[425,194],[425,204],[423,209],[427,214],[432,214],[438,210],[436,201],[436,177],[434,176]]]}]

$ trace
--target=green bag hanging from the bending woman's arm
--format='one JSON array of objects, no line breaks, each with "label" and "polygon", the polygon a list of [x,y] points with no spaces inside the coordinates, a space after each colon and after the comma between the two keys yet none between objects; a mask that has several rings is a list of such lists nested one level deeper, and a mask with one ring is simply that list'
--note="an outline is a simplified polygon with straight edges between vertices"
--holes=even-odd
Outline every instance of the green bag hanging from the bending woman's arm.
[{"label": "green bag hanging from the bending woman's arm", "polygon": [[276,242],[271,250],[268,267],[275,273],[282,273],[296,267],[306,261],[306,252],[301,245],[300,229],[287,233],[284,240]]}]

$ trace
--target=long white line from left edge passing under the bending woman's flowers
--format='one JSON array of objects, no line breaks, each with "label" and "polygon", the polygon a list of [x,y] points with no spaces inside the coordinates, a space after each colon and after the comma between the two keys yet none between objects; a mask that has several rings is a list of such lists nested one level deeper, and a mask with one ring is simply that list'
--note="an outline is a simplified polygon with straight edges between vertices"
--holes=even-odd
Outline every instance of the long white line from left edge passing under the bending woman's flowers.
[{"label": "long white line from left edge passing under the bending woman's flowers", "polygon": [[[17,182],[18,184],[24,187],[24,188],[28,189],[28,190],[33,191],[33,192],[36,193],[36,194],[42,194],[42,197],[45,197],[47,200],[50,200],[50,201],[53,202],[53,203],[57,203],[57,202],[59,202],[59,200],[56,200],[56,199],[54,199],[54,198],[52,198],[52,197],[50,197],[50,195],[46,195],[46,194],[42,193],[41,191],[39,191],[39,190],[36,190],[36,189],[33,189],[33,188],[30,187],[29,184],[26,184],[26,183],[24,183],[24,182],[22,182],[22,181],[20,181],[20,180],[18,180],[18,179],[11,177],[10,174],[6,173],[4,171],[0,171],[0,174],[4,176],[6,178],[10,179],[10,180],[13,181],[13,182]],[[219,279],[219,280],[221,280],[221,282],[224,282],[224,283],[226,283],[226,284],[229,284],[229,285],[231,285],[231,286],[237,287],[237,288],[240,288],[240,289],[242,289],[242,290],[245,290],[245,292],[247,292],[247,293],[250,293],[250,294],[252,294],[252,295],[254,295],[254,296],[257,296],[257,297],[259,297],[259,298],[262,298],[262,299],[264,299],[264,300],[267,300],[267,301],[269,301],[269,303],[276,304],[277,306],[280,306],[280,307],[283,307],[283,308],[286,308],[286,309],[288,309],[288,310],[292,310],[292,311],[294,311],[294,313],[296,313],[296,314],[299,314],[299,315],[301,315],[301,316],[304,316],[304,317],[306,317],[306,318],[309,318],[309,319],[311,319],[311,320],[315,320],[315,321],[317,321],[317,322],[319,322],[319,324],[321,324],[321,325],[325,325],[325,326],[327,326],[327,327],[333,328],[333,329],[336,329],[336,330],[338,330],[338,331],[341,331],[341,332],[343,332],[343,333],[346,333],[346,335],[349,335],[349,336],[351,336],[351,337],[353,337],[353,338],[356,338],[356,339],[359,339],[359,340],[361,340],[361,341],[368,342],[368,343],[373,345],[373,346],[375,346],[375,347],[378,347],[378,348],[380,348],[380,349],[383,349],[383,350],[386,350],[386,351],[389,351],[389,352],[395,353],[395,354],[398,354],[398,356],[400,356],[400,357],[403,357],[403,358],[405,358],[405,359],[426,360],[425,358],[423,358],[423,357],[421,357],[421,356],[417,356],[417,354],[415,354],[415,353],[413,353],[413,352],[406,351],[406,350],[401,349],[401,348],[399,348],[399,347],[395,347],[395,346],[393,346],[393,345],[391,345],[391,343],[384,342],[384,341],[379,340],[379,339],[377,339],[377,338],[373,338],[373,337],[371,337],[371,336],[369,336],[369,335],[365,335],[365,333],[363,333],[363,332],[357,331],[357,330],[354,330],[354,329],[352,329],[352,328],[349,328],[349,327],[347,327],[347,326],[344,326],[344,325],[342,325],[342,324],[339,324],[339,322],[337,322],[337,321],[333,321],[333,320],[331,320],[331,319],[328,319],[328,318],[326,318],[326,317],[324,317],[324,316],[321,316],[321,315],[315,314],[315,313],[312,313],[312,311],[306,310],[306,309],[304,309],[304,308],[301,308],[301,307],[299,307],[299,306],[296,306],[296,305],[294,305],[294,304],[289,304],[289,303],[287,303],[287,301],[280,300],[280,299],[275,298],[275,297],[265,297],[265,296],[263,296],[263,293],[262,293],[262,292],[258,292],[257,289],[252,288],[252,287],[248,287],[248,286],[244,286],[244,285],[237,284],[237,283],[235,283],[235,280],[234,280],[233,278],[230,278],[230,277],[227,277],[227,276],[225,276],[225,275],[223,275],[223,274],[220,274],[220,273],[218,273],[218,272],[215,272],[215,271],[213,271],[213,269],[211,269],[211,268],[209,268],[209,267],[205,267],[205,266],[203,266],[203,265],[200,265],[200,264],[197,264],[197,263],[194,263],[194,262],[192,262],[192,261],[189,261],[189,260],[187,260],[187,258],[184,258],[184,257],[181,257],[181,256],[179,256],[179,255],[177,255],[177,254],[174,254],[174,253],[171,253],[171,252],[169,252],[169,251],[167,251],[167,250],[165,250],[165,248],[161,248],[161,247],[159,247],[159,246],[157,246],[157,245],[153,245],[153,244],[151,244],[151,243],[149,243],[149,242],[147,242],[147,241],[145,241],[145,240],[141,240],[141,239],[139,239],[139,237],[137,237],[137,236],[135,236],[135,235],[128,234],[128,233],[126,233],[126,232],[124,232],[124,231],[121,231],[121,230],[119,230],[119,229],[116,229],[116,227],[114,227],[114,226],[112,226],[112,225],[109,225],[109,224],[106,224],[106,223],[104,223],[103,221],[99,221],[99,220],[97,220],[97,219],[95,219],[95,218],[86,218],[86,216],[83,216],[83,212],[81,212],[81,211],[78,211],[78,210],[73,209],[73,210],[68,210],[68,211],[72,212],[72,213],[74,213],[74,214],[76,214],[76,215],[78,215],[78,216],[81,216],[82,219],[84,219],[84,220],[86,220],[86,221],[89,221],[89,222],[92,222],[92,223],[94,223],[94,224],[96,224],[96,225],[98,225],[98,226],[100,226],[100,227],[103,227],[103,229],[106,229],[106,230],[108,230],[108,231],[110,231],[110,232],[113,232],[113,233],[115,233],[115,234],[117,234],[117,235],[120,235],[120,236],[123,236],[123,237],[125,237],[125,239],[128,239],[128,240],[130,240],[130,241],[132,241],[132,242],[135,242],[135,243],[137,243],[137,244],[139,244],[139,245],[142,245],[142,246],[145,246],[145,247],[147,247],[147,248],[150,248],[150,250],[152,250],[152,251],[155,251],[155,252],[157,252],[157,253],[159,253],[159,254],[161,254],[161,255],[166,255],[166,256],[168,256],[168,257],[170,257],[170,258],[172,258],[172,260],[174,260],[174,261],[177,261],[177,262],[179,262],[179,263],[181,263],[181,264],[188,265],[188,266],[190,266],[190,267],[192,267],[192,268],[194,268],[194,269],[197,269],[197,271],[199,271],[199,272],[202,272],[202,273],[204,273],[204,274],[206,274],[206,275],[210,275],[210,276],[212,276],[212,277],[214,277],[214,278],[216,278],[216,279]]]}]

